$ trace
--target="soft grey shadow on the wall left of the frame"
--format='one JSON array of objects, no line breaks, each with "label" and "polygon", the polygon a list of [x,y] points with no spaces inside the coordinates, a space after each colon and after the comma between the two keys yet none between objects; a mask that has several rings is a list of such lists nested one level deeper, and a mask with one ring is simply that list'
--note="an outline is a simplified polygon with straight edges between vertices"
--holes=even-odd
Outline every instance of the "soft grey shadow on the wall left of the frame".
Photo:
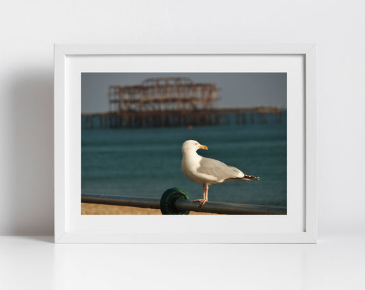
[{"label": "soft grey shadow on the wall left of the frame", "polygon": [[10,78],[7,234],[53,235],[53,71],[19,71]]}]

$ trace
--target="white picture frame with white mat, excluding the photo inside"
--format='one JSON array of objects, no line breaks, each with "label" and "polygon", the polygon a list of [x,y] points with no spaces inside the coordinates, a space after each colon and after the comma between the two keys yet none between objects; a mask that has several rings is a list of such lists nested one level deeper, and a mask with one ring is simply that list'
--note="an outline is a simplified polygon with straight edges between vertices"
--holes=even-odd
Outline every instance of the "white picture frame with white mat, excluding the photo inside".
[{"label": "white picture frame with white mat, excluding the photo inside", "polygon": [[[287,215],[81,216],[81,72],[174,69],[288,72]],[[54,84],[55,243],[316,243],[316,45],[55,45]]]}]

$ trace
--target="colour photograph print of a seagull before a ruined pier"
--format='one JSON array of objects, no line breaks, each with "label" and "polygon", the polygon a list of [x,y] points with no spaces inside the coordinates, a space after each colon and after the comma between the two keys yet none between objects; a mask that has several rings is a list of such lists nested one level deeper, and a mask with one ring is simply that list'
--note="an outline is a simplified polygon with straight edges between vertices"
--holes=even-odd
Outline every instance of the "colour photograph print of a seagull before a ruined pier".
[{"label": "colour photograph print of a seagull before a ruined pier", "polygon": [[81,215],[286,215],[286,73],[81,73]]}]

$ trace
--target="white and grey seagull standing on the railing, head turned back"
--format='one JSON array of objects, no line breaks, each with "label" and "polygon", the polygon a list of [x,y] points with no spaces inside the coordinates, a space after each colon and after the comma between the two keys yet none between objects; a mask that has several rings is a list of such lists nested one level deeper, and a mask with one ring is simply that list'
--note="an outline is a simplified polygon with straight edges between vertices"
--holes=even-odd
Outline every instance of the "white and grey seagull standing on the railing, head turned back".
[{"label": "white and grey seagull standing on the railing, head turned back", "polygon": [[187,178],[193,182],[203,184],[203,199],[194,200],[194,202],[199,202],[199,208],[207,202],[208,189],[211,184],[232,180],[260,180],[257,176],[244,174],[236,167],[225,165],[225,163],[212,158],[200,156],[197,154],[198,149],[207,150],[208,148],[194,140],[188,140],[183,143],[181,147],[183,156],[181,169]]}]

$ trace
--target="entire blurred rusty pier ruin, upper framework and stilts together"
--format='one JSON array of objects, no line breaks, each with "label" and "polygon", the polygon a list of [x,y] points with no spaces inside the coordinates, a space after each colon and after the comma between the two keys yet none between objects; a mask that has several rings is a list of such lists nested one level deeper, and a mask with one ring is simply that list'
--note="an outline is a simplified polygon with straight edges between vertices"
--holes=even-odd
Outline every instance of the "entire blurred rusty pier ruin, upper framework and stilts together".
[{"label": "entire blurred rusty pier ruin, upper framework and stilts together", "polygon": [[110,86],[109,112],[81,114],[82,129],[244,125],[281,122],[281,107],[216,108],[219,88],[186,77],[147,79],[135,86]]}]

